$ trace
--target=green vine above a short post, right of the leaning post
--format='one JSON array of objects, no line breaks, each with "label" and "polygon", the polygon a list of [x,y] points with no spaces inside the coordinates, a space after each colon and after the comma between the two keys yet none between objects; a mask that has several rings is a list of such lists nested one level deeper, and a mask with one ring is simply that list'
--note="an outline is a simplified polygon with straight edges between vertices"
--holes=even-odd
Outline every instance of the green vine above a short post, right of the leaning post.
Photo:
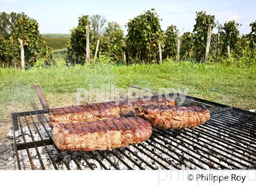
[{"label": "green vine above a short post, right of the leaning post", "polygon": [[239,47],[237,42],[239,40],[239,24],[233,21],[228,21],[224,23],[224,25],[219,25],[219,48],[220,48],[220,55],[227,54],[227,47],[229,46],[230,49],[234,52],[239,52]]}]

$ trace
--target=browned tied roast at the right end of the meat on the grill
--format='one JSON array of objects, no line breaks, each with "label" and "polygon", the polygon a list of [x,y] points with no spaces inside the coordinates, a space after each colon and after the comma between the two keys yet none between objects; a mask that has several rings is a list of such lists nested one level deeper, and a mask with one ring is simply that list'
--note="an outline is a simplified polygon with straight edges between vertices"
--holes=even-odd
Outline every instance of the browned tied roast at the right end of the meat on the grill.
[{"label": "browned tied roast at the right end of the meat on the grill", "polygon": [[162,129],[195,128],[210,119],[210,110],[197,106],[148,105],[136,108],[136,116]]}]

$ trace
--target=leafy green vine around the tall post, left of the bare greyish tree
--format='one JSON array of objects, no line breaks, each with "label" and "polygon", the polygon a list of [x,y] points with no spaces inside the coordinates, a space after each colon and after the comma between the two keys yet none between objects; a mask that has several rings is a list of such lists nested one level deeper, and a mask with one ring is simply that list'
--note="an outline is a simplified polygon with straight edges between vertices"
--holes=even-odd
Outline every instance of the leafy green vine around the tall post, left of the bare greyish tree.
[{"label": "leafy green vine around the tall post, left of the bare greyish tree", "polygon": [[[86,63],[86,26],[90,28],[89,16],[80,16],[78,26],[74,27],[71,31],[70,42],[68,43],[68,57],[67,60],[73,64]],[[95,36],[90,29],[90,57],[93,57],[93,51],[95,48]]]}]

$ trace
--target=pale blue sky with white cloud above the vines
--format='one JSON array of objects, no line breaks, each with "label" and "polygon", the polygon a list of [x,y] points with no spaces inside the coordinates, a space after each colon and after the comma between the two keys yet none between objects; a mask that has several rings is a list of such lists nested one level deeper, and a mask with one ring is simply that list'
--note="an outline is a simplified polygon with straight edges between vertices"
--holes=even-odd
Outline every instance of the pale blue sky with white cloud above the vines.
[{"label": "pale blue sky with white cloud above the vines", "polygon": [[0,12],[25,12],[37,20],[41,33],[70,33],[80,15],[95,14],[116,21],[127,33],[126,23],[152,8],[162,19],[162,30],[174,24],[181,33],[193,30],[196,11],[201,10],[221,24],[239,22],[241,34],[249,33],[249,24],[256,20],[256,0],[0,0]]}]

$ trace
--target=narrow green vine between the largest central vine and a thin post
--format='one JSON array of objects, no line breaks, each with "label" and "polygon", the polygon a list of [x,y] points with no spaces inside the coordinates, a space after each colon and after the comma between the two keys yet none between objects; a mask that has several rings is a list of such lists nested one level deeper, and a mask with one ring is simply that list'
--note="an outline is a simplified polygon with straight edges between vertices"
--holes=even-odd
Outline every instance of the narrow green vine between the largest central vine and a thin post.
[{"label": "narrow green vine between the largest central vine and a thin post", "polygon": [[164,52],[163,58],[176,56],[176,44],[177,44],[177,27],[174,25],[168,26],[165,31],[164,37]]}]

